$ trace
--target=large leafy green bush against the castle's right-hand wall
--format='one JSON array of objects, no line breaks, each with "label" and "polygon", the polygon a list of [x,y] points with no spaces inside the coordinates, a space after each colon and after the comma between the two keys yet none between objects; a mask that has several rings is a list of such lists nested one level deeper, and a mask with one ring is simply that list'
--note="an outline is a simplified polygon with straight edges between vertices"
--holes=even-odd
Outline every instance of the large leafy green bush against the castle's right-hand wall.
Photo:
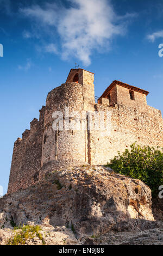
[{"label": "large leafy green bush against the castle's right-hand wall", "polygon": [[159,186],[163,185],[163,148],[140,147],[136,143],[130,148],[122,154],[118,152],[107,166],[117,173],[142,180],[151,188],[153,196],[157,196]]}]

